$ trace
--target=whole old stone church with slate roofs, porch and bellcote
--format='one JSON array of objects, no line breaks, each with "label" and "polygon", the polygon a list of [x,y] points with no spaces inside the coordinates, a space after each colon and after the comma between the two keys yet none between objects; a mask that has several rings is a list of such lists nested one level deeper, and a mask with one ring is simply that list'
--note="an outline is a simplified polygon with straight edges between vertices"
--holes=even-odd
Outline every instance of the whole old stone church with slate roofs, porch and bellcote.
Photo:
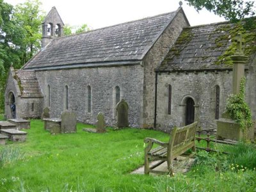
[{"label": "whole old stone church with slate roofs, porch and bellcote", "polygon": [[[223,57],[232,45],[232,24],[190,27],[180,7],[78,35],[63,36],[63,25],[53,7],[42,24],[42,49],[20,70],[11,67],[7,118],[37,118],[47,107],[52,118],[70,109],[79,122],[95,124],[102,112],[115,125],[116,104],[124,99],[131,127],[170,131],[195,120],[204,129],[216,127],[232,93],[232,65]],[[255,118],[250,55],[246,100]]]}]

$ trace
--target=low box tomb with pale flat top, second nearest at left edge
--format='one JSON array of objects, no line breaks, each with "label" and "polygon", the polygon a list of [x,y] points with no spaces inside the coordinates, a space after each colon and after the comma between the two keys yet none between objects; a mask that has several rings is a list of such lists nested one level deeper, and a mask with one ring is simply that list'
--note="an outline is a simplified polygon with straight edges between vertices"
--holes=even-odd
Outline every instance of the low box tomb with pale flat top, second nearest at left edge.
[{"label": "low box tomb with pale flat top, second nearest at left edge", "polygon": [[8,136],[11,141],[26,141],[27,138],[27,132],[17,129],[1,129],[0,133]]}]

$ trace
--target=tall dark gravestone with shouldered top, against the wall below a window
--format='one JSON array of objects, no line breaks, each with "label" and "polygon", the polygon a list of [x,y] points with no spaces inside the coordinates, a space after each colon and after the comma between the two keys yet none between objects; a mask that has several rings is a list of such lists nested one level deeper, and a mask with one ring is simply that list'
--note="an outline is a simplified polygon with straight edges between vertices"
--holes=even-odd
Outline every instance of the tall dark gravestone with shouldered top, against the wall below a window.
[{"label": "tall dark gravestone with shouldered top, against the wall below a window", "polygon": [[127,102],[122,99],[118,104],[116,105],[116,111],[117,111],[117,124],[116,126],[119,127],[128,127],[128,104]]}]

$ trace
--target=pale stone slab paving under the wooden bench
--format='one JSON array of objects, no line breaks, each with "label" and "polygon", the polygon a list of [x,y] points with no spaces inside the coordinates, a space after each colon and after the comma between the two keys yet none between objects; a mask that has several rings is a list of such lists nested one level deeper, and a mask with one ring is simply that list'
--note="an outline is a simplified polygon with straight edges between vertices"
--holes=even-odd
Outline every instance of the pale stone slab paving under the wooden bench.
[{"label": "pale stone slab paving under the wooden bench", "polygon": [[[158,161],[153,161],[150,163],[150,166],[153,164],[156,164]],[[188,157],[182,157],[179,156],[177,157],[177,160],[173,162],[173,172],[174,173],[186,173],[190,170],[192,164],[195,162],[195,159],[193,158],[188,158]],[[154,170],[159,170],[159,171],[168,171],[167,169],[167,162],[164,162],[163,164],[157,166],[154,168]],[[144,166],[141,166],[137,170],[134,170],[131,172],[132,174],[144,174]],[[150,175],[157,175],[156,173],[150,173]]]}]

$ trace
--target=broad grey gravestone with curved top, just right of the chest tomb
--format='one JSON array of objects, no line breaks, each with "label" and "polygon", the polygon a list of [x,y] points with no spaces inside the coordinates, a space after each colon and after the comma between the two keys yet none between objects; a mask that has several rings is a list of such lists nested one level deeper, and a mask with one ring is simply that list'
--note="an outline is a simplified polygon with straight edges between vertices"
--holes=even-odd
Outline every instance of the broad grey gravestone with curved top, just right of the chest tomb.
[{"label": "broad grey gravestone with curved top, just right of the chest tomb", "polygon": [[61,114],[61,133],[76,132],[76,113],[66,110]]}]

